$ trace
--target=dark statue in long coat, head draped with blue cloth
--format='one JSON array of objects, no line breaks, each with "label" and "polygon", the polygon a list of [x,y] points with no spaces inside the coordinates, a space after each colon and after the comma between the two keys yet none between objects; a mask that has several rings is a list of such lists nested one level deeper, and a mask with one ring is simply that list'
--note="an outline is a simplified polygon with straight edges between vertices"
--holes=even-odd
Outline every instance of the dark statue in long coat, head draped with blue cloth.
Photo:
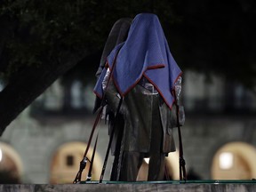
[{"label": "dark statue in long coat, head draped with blue cloth", "polygon": [[114,133],[110,180],[135,181],[145,157],[148,180],[164,180],[164,158],[175,151],[172,129],[179,118],[173,103],[180,98],[182,72],[155,14],[140,13],[129,27],[94,87]]}]

